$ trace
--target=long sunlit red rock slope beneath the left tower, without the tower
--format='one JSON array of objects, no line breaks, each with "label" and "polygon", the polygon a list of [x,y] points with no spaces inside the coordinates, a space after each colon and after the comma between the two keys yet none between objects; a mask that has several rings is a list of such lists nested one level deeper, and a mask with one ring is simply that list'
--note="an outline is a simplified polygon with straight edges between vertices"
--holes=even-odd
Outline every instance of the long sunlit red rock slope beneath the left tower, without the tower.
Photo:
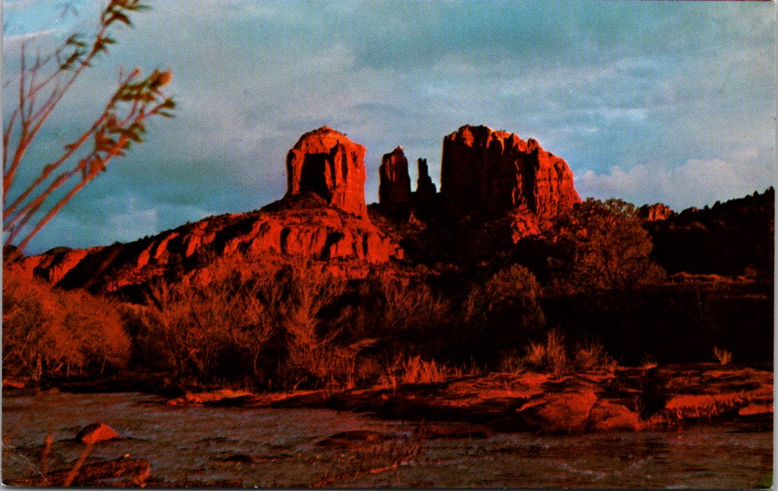
[{"label": "long sunlit red rock slope beneath the left tower, without the tower", "polygon": [[170,272],[193,271],[202,258],[247,254],[352,261],[345,275],[365,265],[402,258],[402,249],[370,221],[328,206],[260,210],[212,216],[154,237],[86,250],[54,251],[23,258],[11,268],[67,287],[117,292],[143,286]]}]

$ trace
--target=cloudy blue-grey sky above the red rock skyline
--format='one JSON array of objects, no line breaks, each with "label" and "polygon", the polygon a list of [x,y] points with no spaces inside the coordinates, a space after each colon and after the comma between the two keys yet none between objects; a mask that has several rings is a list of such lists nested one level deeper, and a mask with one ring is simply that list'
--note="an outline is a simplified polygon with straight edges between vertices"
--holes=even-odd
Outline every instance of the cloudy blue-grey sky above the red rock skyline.
[{"label": "cloudy blue-grey sky above the red rock skyline", "polygon": [[[582,197],[680,210],[776,181],[773,2],[147,2],[47,121],[19,184],[88,128],[120,67],[171,69],[176,117],[152,122],[28,252],[261,208],[286,192],[286,153],[323,125],[366,146],[368,203],[398,145],[440,185],[443,136],[468,124],[537,139]],[[4,82],[23,42],[45,54],[94,32],[103,3],[4,0]]]}]

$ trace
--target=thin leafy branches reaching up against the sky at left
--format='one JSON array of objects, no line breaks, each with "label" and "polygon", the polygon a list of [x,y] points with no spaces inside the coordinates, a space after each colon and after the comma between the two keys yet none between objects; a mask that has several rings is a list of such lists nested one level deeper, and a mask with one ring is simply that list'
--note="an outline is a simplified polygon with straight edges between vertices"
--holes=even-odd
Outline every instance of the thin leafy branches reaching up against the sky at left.
[{"label": "thin leafy branches reaching up against the sky at left", "polygon": [[[31,182],[19,183],[24,156],[45,121],[58,107],[79,75],[107,52],[114,38],[109,28],[131,26],[133,12],[148,9],[140,0],[110,0],[100,16],[94,37],[74,34],[52,54],[30,57],[22,44],[16,106],[3,117],[3,235],[5,245],[23,251],[30,240],[115,156],[124,156],[132,143],[142,142],[150,117],[171,117],[175,103],[162,92],[172,75],[154,70],[145,78],[139,68],[119,71],[118,87],[95,121],[63,152],[45,163]],[[91,142],[88,144],[88,142]],[[33,173],[30,173],[34,175]],[[53,199],[50,199],[53,198]],[[12,258],[5,258],[5,260]]]}]

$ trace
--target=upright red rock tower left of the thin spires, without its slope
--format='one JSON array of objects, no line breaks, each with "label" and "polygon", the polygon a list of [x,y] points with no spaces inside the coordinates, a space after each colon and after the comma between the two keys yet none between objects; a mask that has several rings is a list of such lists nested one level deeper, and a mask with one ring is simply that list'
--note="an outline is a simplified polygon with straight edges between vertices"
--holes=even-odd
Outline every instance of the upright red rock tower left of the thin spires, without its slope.
[{"label": "upright red rock tower left of the thin spires, without its slope", "polygon": [[313,192],[329,205],[366,215],[365,147],[323,126],[300,137],[286,156],[286,196]]}]

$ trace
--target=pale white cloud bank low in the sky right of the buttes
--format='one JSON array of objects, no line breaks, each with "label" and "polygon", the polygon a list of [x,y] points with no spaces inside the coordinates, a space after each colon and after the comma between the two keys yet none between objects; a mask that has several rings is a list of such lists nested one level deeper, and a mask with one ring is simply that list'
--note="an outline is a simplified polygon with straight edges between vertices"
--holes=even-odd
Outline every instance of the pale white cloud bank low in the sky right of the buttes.
[{"label": "pale white cloud bank low in the sky right of the buttes", "polygon": [[641,164],[626,171],[614,166],[610,174],[586,170],[576,177],[576,189],[582,197],[622,198],[636,205],[662,202],[681,210],[739,198],[774,182],[765,166],[690,159],[672,169]]}]

